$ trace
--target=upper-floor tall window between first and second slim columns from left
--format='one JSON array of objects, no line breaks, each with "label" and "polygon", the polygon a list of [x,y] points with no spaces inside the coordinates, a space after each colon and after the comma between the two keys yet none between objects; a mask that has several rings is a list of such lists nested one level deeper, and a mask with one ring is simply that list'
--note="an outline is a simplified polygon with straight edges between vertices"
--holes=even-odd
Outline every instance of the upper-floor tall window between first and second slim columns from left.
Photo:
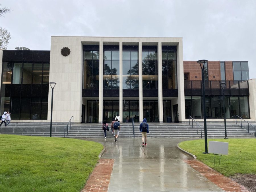
[{"label": "upper-floor tall window between first and second slim columns from left", "polygon": [[104,89],[119,89],[119,51],[104,51]]}]

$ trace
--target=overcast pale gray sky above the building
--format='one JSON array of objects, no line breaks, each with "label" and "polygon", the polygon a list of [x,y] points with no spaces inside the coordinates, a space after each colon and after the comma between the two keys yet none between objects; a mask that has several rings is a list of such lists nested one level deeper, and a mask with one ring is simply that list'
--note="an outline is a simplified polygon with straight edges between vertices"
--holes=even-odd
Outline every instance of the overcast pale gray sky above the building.
[{"label": "overcast pale gray sky above the building", "polygon": [[256,78],[255,0],[1,0],[9,48],[50,50],[51,36],[183,37],[183,60],[249,61]]}]

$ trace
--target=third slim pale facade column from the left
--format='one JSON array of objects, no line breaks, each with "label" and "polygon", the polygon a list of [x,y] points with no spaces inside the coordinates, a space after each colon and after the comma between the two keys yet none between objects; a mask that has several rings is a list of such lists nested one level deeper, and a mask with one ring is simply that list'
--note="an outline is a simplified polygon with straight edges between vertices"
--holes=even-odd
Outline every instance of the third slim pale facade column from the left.
[{"label": "third slim pale facade column from the left", "polygon": [[139,121],[143,121],[143,95],[142,95],[142,42],[139,42]]}]

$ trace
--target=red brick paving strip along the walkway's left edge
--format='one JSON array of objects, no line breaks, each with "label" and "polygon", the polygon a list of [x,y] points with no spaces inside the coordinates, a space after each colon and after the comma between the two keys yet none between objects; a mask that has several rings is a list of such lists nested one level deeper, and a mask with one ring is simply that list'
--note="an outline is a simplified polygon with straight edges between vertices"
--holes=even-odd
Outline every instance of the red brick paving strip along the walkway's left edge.
[{"label": "red brick paving strip along the walkway's left edge", "polygon": [[81,192],[108,191],[113,164],[113,159],[100,159]]}]

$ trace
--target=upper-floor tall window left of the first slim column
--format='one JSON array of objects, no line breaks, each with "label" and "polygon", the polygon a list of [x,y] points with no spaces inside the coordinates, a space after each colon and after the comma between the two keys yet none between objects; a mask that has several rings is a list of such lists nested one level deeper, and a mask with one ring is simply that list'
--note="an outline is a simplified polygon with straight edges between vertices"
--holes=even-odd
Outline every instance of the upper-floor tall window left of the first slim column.
[{"label": "upper-floor tall window left of the first slim column", "polygon": [[84,51],[83,89],[99,88],[100,52]]}]

